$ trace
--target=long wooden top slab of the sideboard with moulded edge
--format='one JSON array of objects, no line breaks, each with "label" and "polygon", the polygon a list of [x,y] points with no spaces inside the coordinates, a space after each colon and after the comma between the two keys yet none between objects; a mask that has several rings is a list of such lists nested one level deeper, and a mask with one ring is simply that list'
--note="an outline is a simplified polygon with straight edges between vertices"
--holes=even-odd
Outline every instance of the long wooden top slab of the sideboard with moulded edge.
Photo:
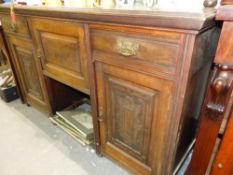
[{"label": "long wooden top slab of the sideboard with moulded edge", "polygon": [[[200,12],[165,10],[122,10],[49,6],[15,6],[16,14],[110,22],[148,27],[201,30],[214,24],[215,9]],[[9,4],[0,5],[0,13],[10,13]]]}]

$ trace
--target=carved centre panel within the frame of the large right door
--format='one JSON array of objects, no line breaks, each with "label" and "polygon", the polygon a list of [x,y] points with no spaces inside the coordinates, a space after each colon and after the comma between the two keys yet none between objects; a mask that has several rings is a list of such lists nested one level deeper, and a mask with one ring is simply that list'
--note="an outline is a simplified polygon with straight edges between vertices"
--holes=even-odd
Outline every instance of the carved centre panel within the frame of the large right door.
[{"label": "carved centre panel within the frame of the large right door", "polygon": [[153,103],[157,92],[109,77],[108,140],[131,155],[146,161]]}]

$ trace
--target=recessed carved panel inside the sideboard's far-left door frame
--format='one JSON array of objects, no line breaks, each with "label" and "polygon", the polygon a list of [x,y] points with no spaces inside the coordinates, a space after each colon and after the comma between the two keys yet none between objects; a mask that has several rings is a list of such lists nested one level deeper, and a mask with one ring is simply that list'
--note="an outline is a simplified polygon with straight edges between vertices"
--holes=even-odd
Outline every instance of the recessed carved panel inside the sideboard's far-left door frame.
[{"label": "recessed carved panel inside the sideboard's far-left door frame", "polygon": [[18,46],[15,46],[15,53],[17,55],[20,68],[25,79],[27,93],[32,94],[40,100],[43,100],[33,53]]}]

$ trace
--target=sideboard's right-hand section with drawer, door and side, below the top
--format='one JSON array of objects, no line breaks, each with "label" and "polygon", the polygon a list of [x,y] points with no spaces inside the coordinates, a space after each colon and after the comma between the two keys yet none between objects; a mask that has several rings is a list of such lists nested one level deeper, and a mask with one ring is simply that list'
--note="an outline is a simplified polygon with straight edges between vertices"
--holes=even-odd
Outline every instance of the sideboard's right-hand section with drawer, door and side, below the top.
[{"label": "sideboard's right-hand section with drawer, door and side, below the top", "polygon": [[[170,174],[192,143],[205,90],[203,82],[216,45],[211,41],[218,39],[218,30],[195,36],[139,27],[90,27],[102,152],[136,174]],[[131,43],[138,44],[138,49],[128,55],[125,50],[134,46]],[[158,49],[161,45],[164,50]],[[149,48],[157,54],[143,52]],[[183,53],[184,48],[188,52]],[[173,55],[168,56],[171,52]],[[138,121],[144,123],[140,132]],[[143,142],[136,144],[135,137]],[[148,138],[150,146],[145,148]]]}]

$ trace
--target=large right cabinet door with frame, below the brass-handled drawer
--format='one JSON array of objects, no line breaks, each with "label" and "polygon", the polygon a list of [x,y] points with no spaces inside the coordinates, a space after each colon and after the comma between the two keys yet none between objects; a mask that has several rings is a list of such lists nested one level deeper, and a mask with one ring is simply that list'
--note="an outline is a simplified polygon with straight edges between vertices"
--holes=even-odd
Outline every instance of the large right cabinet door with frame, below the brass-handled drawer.
[{"label": "large right cabinet door with frame, below the brass-handled drawer", "polygon": [[161,174],[172,83],[96,63],[101,149],[136,174]]}]

